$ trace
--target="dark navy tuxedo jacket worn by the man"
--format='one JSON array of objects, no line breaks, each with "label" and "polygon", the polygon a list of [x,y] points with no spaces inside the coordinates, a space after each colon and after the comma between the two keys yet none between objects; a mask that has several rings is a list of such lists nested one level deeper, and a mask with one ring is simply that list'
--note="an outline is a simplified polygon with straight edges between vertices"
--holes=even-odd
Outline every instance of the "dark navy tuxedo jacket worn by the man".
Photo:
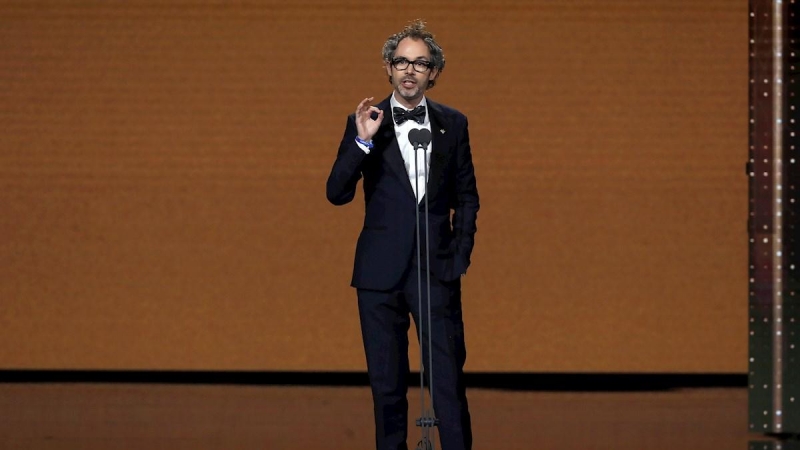
[{"label": "dark navy tuxedo jacket worn by the man", "polygon": [[[478,215],[478,189],[469,145],[467,118],[455,109],[427,99],[433,134],[428,201],[429,247],[425,247],[425,200],[416,204],[414,191],[395,138],[387,97],[376,107],[383,121],[366,154],[355,142],[355,114],[339,145],[328,177],[328,200],[343,205],[353,200],[363,178],[364,226],[356,245],[352,286],[390,290],[416,258],[416,211],[420,214],[423,252],[430,258],[431,273],[441,281],[453,281],[466,273],[474,245]],[[421,151],[421,150],[420,150]],[[452,214],[451,214],[452,211]],[[422,267],[425,253],[422,254]]]}]

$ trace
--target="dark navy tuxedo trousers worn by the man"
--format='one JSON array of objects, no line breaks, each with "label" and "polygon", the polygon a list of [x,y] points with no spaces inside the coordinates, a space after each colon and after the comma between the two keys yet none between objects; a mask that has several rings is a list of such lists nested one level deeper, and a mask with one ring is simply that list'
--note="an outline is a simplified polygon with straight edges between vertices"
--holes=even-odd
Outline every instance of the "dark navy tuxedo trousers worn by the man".
[{"label": "dark navy tuxedo trousers worn by the man", "polygon": [[[420,280],[416,255],[412,259],[395,289],[357,290],[361,335],[375,408],[376,446],[378,450],[408,448],[410,316],[414,320],[417,336],[422,328],[425,384],[428,384],[432,375],[432,401],[436,418],[439,419],[440,448],[469,450],[472,448],[472,426],[463,371],[467,353],[461,309],[461,280],[445,283],[431,275],[428,308],[426,274],[429,272],[423,271]],[[418,280],[422,286],[422,310]],[[429,367],[431,359],[432,367]],[[422,412],[421,406],[419,411]]]}]

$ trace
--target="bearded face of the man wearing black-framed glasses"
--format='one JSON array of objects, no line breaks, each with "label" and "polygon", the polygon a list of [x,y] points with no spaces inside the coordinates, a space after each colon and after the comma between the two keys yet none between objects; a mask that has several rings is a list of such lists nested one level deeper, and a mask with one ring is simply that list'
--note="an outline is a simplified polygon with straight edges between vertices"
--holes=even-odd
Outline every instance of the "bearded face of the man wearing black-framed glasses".
[{"label": "bearded face of the man wearing black-framed glasses", "polygon": [[[397,44],[393,61],[405,59],[410,62],[407,67],[397,69],[392,61],[386,63],[386,73],[392,77],[392,86],[397,92],[397,99],[403,106],[411,109],[422,100],[428,88],[428,81],[436,79],[438,69],[426,68],[422,63],[429,63],[431,53],[422,40],[405,38]],[[414,64],[417,62],[417,64]],[[400,64],[402,67],[402,64]],[[420,72],[420,70],[423,70]]]}]

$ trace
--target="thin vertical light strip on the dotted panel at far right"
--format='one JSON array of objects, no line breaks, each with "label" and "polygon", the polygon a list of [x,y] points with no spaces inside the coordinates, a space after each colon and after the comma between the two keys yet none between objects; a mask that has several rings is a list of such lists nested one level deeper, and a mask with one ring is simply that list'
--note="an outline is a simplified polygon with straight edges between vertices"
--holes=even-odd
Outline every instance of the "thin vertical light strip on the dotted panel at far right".
[{"label": "thin vertical light strip on the dotted panel at far right", "polygon": [[772,14],[772,423],[782,431],[783,415],[783,1],[773,2]]}]

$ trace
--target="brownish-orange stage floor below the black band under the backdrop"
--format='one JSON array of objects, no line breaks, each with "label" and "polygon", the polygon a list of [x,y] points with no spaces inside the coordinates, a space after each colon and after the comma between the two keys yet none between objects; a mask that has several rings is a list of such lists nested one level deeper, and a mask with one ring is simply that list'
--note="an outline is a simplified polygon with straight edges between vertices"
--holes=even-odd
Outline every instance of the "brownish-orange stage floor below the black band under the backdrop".
[{"label": "brownish-orange stage floor below the black band under the backdrop", "polygon": [[[468,397],[475,449],[745,450],[760,438],[744,388]],[[413,422],[418,389],[409,404]],[[371,414],[366,387],[5,383],[0,448],[369,450]],[[409,436],[413,449],[418,429]]]}]

